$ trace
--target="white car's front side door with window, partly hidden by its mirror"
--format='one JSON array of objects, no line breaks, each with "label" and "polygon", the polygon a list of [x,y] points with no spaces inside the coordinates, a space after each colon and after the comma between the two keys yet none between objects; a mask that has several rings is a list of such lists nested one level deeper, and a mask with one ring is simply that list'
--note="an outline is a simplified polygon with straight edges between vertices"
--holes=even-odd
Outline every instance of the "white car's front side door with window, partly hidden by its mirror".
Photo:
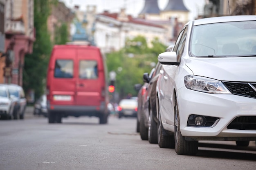
[{"label": "white car's front side door with window, partly hidden by its mirror", "polygon": [[[180,61],[183,51],[184,51],[184,45],[186,41],[186,34],[187,34],[187,28],[184,27],[182,31],[180,32],[180,35],[177,38],[177,41],[175,43],[175,46],[173,48],[173,51],[177,54],[177,61]],[[174,125],[174,105],[173,105],[173,99],[174,99],[174,89],[175,89],[175,75],[178,70],[178,65],[163,65],[162,69],[164,71],[162,75],[162,83],[160,86],[160,89],[164,93],[164,97],[162,99],[162,107],[160,107],[161,116],[163,122],[166,122],[167,124]]]}]

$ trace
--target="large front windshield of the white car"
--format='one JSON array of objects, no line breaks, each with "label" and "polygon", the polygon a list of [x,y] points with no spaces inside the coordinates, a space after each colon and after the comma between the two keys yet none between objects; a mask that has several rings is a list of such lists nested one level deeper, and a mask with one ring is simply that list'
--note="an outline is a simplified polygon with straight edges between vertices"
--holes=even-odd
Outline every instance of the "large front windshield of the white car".
[{"label": "large front windshield of the white car", "polygon": [[193,27],[192,57],[253,57],[256,55],[256,21],[223,22]]}]

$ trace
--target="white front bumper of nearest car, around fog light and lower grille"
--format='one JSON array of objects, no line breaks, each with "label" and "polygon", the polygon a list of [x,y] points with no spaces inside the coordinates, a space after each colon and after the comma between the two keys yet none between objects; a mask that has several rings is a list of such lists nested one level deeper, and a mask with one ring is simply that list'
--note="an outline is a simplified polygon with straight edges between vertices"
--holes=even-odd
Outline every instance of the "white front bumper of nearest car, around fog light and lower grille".
[{"label": "white front bumper of nearest car, around fog light and lower grille", "polygon": [[[180,114],[180,131],[185,137],[197,137],[200,140],[213,140],[214,137],[216,140],[225,139],[225,137],[230,137],[230,139],[256,137],[256,130],[227,128],[237,117],[256,117],[256,99],[254,98],[233,94],[208,94],[183,87],[177,91],[177,102]],[[220,119],[213,127],[189,127],[187,121],[191,114]]]}]

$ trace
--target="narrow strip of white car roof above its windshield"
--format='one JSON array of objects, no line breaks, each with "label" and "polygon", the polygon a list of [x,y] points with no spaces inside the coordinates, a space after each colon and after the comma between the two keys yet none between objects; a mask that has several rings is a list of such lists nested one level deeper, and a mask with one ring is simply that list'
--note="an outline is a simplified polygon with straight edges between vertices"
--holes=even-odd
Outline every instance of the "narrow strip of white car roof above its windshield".
[{"label": "narrow strip of white car roof above its windshield", "polygon": [[232,15],[222,17],[209,17],[194,20],[194,26],[203,24],[213,24],[220,22],[236,22],[236,21],[256,21],[256,15]]}]

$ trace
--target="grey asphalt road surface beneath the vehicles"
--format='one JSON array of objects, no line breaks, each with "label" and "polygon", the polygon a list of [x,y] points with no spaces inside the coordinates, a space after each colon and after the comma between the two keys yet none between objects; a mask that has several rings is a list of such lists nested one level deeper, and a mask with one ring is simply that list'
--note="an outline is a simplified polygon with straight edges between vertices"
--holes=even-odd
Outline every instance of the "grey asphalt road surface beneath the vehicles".
[{"label": "grey asphalt road surface beneath the vehicles", "polygon": [[28,107],[24,120],[0,120],[0,170],[254,170],[256,144],[204,141],[196,156],[142,141],[135,118],[63,118],[48,124]]}]

